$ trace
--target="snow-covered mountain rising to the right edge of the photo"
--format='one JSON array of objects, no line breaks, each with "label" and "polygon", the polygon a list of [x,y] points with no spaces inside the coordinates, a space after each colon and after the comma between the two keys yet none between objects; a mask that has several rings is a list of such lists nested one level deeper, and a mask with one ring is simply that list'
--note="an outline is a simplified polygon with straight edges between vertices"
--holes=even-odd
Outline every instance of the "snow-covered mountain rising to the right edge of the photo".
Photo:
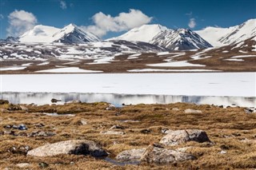
[{"label": "snow-covered mountain rising to the right edge of the photo", "polygon": [[256,35],[256,19],[250,19],[239,26],[229,28],[206,27],[195,31],[214,46],[233,45]]}]

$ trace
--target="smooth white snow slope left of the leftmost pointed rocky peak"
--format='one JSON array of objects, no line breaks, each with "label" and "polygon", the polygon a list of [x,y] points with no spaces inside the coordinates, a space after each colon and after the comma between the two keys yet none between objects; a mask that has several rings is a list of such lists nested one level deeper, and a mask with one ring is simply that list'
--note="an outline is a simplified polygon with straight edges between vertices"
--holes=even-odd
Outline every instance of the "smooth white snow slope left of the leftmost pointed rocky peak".
[{"label": "smooth white snow slope left of the leftmost pointed rocky peak", "polygon": [[53,26],[34,26],[32,30],[27,31],[19,37],[20,42],[54,42],[53,34],[60,29]]}]

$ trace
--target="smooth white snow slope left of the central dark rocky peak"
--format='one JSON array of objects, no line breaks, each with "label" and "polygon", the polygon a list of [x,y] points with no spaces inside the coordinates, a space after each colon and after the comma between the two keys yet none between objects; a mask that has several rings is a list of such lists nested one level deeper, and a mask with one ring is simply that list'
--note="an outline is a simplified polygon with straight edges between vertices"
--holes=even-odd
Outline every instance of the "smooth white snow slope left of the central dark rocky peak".
[{"label": "smooth white snow slope left of the central dark rocky peak", "polygon": [[116,38],[110,38],[108,40],[126,40],[126,41],[138,41],[138,42],[150,42],[154,36],[161,31],[168,30],[166,26],[161,25],[143,25],[138,28],[134,28],[122,34]]}]

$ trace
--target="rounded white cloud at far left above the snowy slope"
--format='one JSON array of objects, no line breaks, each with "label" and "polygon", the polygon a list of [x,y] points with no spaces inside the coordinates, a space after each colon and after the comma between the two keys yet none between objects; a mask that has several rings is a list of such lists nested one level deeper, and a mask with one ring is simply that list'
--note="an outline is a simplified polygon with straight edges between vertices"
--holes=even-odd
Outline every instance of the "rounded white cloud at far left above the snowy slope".
[{"label": "rounded white cloud at far left above the snowy slope", "polygon": [[34,14],[25,10],[14,10],[8,16],[9,26],[7,28],[7,36],[18,37],[30,30],[38,22]]}]

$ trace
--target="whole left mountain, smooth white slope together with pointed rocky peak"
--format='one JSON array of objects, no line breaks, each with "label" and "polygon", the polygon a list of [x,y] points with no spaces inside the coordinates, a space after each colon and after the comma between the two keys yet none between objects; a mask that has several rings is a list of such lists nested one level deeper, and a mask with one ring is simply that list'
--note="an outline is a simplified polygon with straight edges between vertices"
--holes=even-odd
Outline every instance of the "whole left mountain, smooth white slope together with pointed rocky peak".
[{"label": "whole left mountain, smooth white slope together with pointed rocky peak", "polygon": [[32,30],[22,34],[18,39],[20,42],[62,42],[66,44],[100,41],[96,35],[86,32],[74,24],[65,26],[63,29],[53,26],[34,26]]}]

